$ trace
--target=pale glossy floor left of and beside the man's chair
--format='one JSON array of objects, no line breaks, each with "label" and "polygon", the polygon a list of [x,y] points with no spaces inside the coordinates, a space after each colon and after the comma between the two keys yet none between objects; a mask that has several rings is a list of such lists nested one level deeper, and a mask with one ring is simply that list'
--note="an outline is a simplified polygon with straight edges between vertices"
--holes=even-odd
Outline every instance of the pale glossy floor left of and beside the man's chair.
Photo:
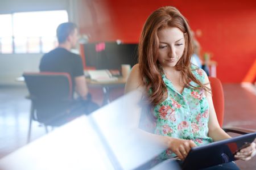
[{"label": "pale glossy floor left of and beside the man's chair", "polygon": [[[26,145],[30,101],[26,87],[0,88],[0,157]],[[37,122],[32,124],[34,140],[45,134]]]}]

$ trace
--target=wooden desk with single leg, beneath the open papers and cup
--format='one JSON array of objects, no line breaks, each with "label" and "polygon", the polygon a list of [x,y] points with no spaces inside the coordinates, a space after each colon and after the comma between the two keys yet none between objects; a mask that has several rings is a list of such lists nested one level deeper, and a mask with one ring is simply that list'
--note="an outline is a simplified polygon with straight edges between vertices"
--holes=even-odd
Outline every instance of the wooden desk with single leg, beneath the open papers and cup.
[{"label": "wooden desk with single leg, beneath the open papers and cup", "polygon": [[106,104],[110,103],[109,94],[110,94],[111,89],[117,88],[117,87],[125,87],[126,79],[124,79],[123,77],[120,77],[116,81],[97,82],[90,78],[86,78],[86,83],[88,84],[88,87],[102,88],[102,91],[104,94],[102,105],[106,105]]}]

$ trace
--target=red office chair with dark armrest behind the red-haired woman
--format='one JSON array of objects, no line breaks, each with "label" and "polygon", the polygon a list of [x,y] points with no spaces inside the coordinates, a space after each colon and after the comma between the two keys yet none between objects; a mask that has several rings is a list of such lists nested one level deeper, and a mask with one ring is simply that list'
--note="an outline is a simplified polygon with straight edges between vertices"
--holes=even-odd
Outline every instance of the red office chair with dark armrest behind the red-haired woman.
[{"label": "red office chair with dark armrest behind the red-haired woman", "polygon": [[[218,78],[209,76],[210,87],[212,89],[212,99],[214,109],[217,114],[218,123],[222,127],[224,118],[224,92],[223,87]],[[252,130],[241,129],[241,128],[222,128],[227,133],[247,134],[253,133]]]}]

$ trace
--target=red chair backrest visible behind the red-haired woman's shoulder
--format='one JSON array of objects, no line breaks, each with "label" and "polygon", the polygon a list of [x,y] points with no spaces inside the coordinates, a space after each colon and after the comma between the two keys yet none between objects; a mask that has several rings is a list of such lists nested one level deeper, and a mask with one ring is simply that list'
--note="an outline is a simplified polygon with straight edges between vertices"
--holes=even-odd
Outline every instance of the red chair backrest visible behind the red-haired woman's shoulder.
[{"label": "red chair backrest visible behind the red-haired woman's shoulder", "polygon": [[224,92],[218,78],[209,76],[210,87],[212,89],[212,100],[218,118],[218,124],[222,127],[224,118]]}]

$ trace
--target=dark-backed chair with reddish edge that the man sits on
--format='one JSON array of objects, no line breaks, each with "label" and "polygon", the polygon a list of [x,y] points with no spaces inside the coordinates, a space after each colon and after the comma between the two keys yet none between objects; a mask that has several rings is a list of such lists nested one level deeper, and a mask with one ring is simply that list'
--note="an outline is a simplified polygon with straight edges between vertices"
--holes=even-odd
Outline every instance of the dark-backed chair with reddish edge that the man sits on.
[{"label": "dark-backed chair with reddish edge that the man sits on", "polygon": [[65,115],[73,101],[72,80],[68,73],[24,73],[31,100],[27,142],[30,142],[32,120],[47,126],[60,126],[68,122]]}]

